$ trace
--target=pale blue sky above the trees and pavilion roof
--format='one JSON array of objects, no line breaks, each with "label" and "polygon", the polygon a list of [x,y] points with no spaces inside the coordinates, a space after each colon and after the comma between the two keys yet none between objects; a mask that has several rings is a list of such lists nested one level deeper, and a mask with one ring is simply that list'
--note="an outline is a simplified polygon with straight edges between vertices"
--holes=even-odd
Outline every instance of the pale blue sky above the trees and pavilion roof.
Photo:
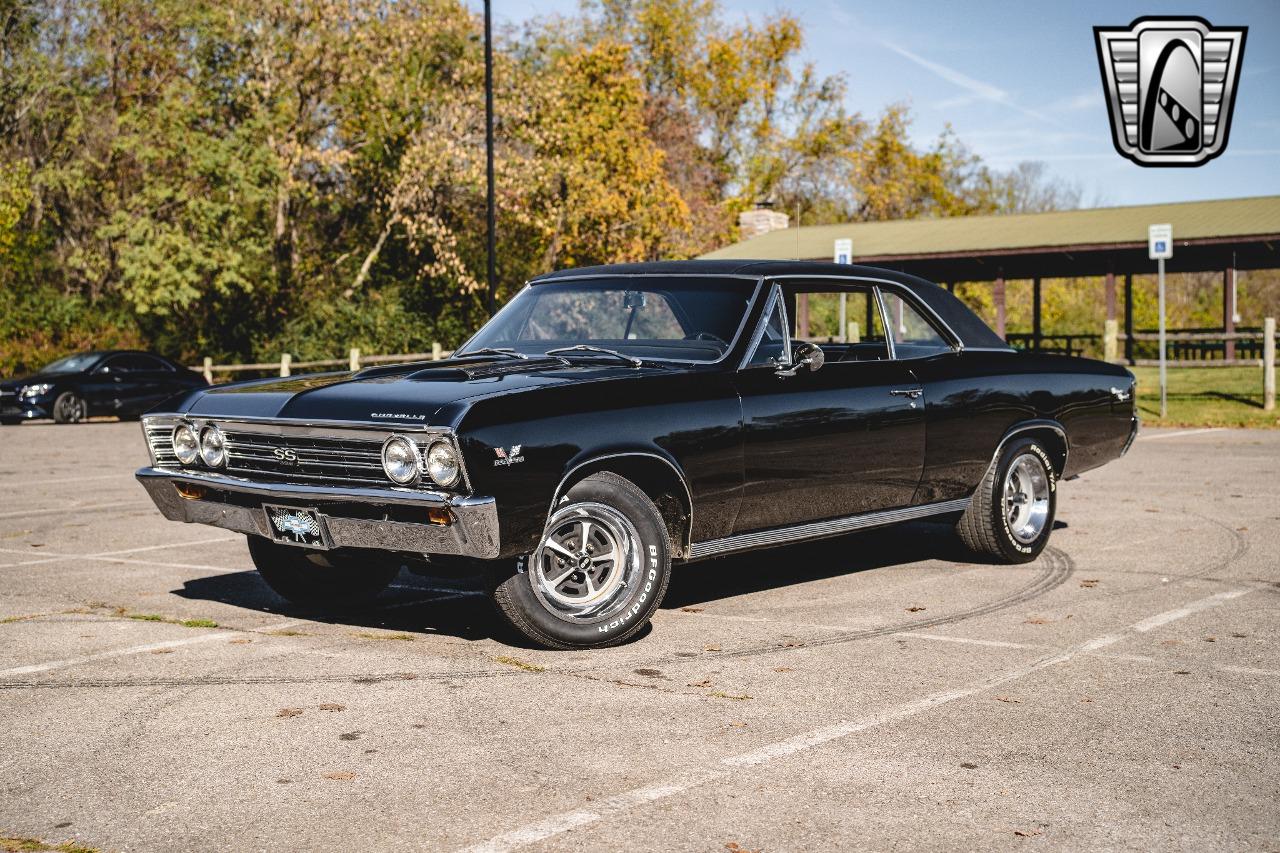
[{"label": "pale blue sky above the trees and pavilion roof", "polygon": [[[995,167],[1042,160],[1078,183],[1087,205],[1133,205],[1280,193],[1280,0],[1252,3],[910,3],[721,0],[726,15],[800,18],[805,55],[844,74],[849,108],[874,115],[906,101],[918,140],[950,122]],[[493,0],[499,22],[572,13],[577,0]],[[1148,169],[1116,154],[1093,26],[1144,14],[1194,14],[1247,26],[1228,150],[1193,169]]]}]

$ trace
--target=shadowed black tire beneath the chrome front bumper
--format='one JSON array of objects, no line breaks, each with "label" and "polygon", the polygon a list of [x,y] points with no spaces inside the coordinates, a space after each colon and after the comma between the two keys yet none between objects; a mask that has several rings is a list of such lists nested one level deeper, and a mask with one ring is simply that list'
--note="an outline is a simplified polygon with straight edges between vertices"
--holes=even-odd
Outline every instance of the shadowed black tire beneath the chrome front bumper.
[{"label": "shadowed black tire beneath the chrome front bumper", "polygon": [[282,598],[324,611],[367,605],[399,574],[399,561],[379,552],[311,551],[248,537],[248,553]]}]

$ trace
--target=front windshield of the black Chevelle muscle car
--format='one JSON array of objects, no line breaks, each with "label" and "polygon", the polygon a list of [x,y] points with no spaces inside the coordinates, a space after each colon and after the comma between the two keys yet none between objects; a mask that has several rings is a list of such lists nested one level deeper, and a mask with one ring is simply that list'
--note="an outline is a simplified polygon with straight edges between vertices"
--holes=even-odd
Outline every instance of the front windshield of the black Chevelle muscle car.
[{"label": "front windshield of the black Chevelle muscle car", "polygon": [[746,316],[742,279],[593,278],[534,284],[456,355],[509,348],[526,355],[590,345],[639,359],[718,361]]}]

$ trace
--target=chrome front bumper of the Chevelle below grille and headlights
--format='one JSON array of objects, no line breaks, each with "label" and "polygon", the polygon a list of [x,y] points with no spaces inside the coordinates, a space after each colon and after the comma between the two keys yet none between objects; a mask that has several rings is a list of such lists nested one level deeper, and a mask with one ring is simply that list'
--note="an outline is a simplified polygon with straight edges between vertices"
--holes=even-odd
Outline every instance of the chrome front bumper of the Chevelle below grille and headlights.
[{"label": "chrome front bumper of the Chevelle below grille and headlights", "polygon": [[[170,521],[209,524],[270,539],[271,530],[262,503],[283,502],[315,508],[335,548],[378,548],[480,560],[493,560],[500,551],[498,507],[492,497],[262,483],[161,467],[143,467],[136,476]],[[182,497],[177,488],[179,483],[202,487],[205,497]],[[357,514],[353,507],[361,511]],[[433,508],[448,510],[452,523],[429,523],[426,511]],[[422,520],[415,520],[417,517]]]}]

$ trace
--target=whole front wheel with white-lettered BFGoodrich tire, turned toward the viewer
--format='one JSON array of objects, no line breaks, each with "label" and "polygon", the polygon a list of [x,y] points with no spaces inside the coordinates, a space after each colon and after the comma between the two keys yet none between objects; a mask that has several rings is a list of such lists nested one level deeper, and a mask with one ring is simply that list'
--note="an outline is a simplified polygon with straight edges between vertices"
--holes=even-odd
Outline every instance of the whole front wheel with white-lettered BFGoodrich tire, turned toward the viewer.
[{"label": "whole front wheel with white-lettered BFGoodrich tire, turned toward the viewer", "polygon": [[564,494],[538,549],[497,584],[494,602],[539,646],[616,646],[648,624],[669,578],[658,508],[635,483],[600,473]]}]

